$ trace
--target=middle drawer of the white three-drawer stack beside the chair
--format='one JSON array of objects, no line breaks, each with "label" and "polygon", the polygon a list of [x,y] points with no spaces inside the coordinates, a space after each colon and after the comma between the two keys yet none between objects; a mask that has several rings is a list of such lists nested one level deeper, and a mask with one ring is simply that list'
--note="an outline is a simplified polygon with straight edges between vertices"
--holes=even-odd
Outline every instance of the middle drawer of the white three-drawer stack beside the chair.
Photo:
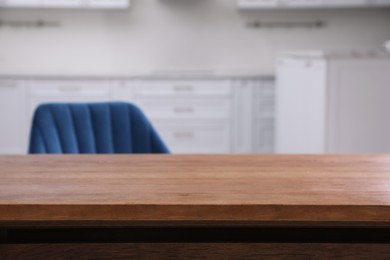
[{"label": "middle drawer of the white three-drawer stack beside the chair", "polygon": [[156,119],[229,119],[229,100],[144,99],[137,104],[150,118]]}]

